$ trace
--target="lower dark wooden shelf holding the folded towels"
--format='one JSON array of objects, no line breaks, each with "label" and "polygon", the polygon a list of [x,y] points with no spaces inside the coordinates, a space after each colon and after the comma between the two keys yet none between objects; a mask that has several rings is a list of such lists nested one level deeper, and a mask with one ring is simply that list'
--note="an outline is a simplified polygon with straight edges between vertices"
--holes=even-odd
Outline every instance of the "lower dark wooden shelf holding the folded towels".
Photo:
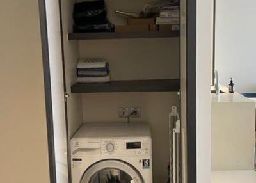
[{"label": "lower dark wooden shelf holding the folded towels", "polygon": [[111,81],[111,83],[77,83],[72,93],[108,93],[108,92],[170,92],[179,91],[180,79],[154,79]]}]

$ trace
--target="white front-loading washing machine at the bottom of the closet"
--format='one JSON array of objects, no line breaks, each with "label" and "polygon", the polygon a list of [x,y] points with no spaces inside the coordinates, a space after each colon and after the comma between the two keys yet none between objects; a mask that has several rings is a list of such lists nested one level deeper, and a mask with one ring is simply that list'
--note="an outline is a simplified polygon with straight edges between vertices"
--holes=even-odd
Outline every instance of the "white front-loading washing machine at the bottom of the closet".
[{"label": "white front-loading washing machine at the bottom of the closet", "polygon": [[71,140],[72,183],[152,183],[147,123],[84,124]]}]

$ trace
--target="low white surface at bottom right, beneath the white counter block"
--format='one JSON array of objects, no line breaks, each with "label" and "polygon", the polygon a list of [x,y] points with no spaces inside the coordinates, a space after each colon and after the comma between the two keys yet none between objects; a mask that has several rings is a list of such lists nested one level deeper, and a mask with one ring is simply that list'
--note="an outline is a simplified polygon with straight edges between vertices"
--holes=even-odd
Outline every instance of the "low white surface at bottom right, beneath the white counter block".
[{"label": "low white surface at bottom right, beneath the white counter block", "polygon": [[211,183],[255,183],[256,171],[212,171]]}]

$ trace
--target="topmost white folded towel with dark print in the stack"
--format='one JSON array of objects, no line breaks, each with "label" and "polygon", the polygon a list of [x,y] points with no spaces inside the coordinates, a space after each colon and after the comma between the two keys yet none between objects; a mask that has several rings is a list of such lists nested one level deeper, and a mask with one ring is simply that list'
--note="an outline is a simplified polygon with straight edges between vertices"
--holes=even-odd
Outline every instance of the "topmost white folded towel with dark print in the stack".
[{"label": "topmost white folded towel with dark print in the stack", "polygon": [[105,68],[106,65],[106,61],[99,58],[80,58],[77,68]]}]

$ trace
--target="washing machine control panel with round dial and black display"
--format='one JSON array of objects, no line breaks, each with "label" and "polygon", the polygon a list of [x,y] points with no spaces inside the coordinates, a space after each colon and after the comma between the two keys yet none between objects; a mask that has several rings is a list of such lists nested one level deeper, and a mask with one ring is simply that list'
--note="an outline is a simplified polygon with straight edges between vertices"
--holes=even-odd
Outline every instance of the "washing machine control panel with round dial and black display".
[{"label": "washing machine control panel with round dial and black display", "polygon": [[102,155],[145,155],[151,153],[150,139],[103,139]]}]

